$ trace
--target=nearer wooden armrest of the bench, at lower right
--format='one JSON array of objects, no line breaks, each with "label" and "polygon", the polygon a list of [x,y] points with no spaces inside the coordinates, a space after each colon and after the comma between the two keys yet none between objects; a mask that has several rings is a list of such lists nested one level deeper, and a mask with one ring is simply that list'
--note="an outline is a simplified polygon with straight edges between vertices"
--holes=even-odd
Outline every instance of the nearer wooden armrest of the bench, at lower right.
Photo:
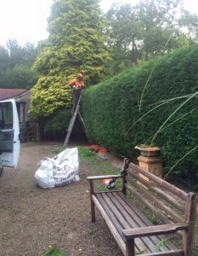
[{"label": "nearer wooden armrest of the bench, at lower right", "polygon": [[164,224],[150,227],[134,228],[123,230],[123,236],[126,239],[137,238],[143,236],[157,236],[162,234],[170,234],[178,230],[187,230],[188,224]]}]

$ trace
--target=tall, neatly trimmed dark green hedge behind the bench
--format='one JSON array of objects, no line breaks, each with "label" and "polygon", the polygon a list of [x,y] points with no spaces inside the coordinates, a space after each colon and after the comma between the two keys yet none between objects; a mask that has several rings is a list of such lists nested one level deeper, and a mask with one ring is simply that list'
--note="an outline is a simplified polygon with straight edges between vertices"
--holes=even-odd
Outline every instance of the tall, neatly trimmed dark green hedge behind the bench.
[{"label": "tall, neatly trimmed dark green hedge behind the bench", "polygon": [[[161,130],[153,141],[161,147],[164,164],[170,169],[198,146],[198,94],[191,99],[187,96],[196,91],[198,46],[193,45],[129,69],[85,90],[82,113],[87,135],[94,143],[133,157],[134,147],[139,143],[150,144],[156,131],[183,104],[168,119],[164,125],[167,128]],[[159,102],[173,98],[177,99],[156,108]],[[133,125],[153,108],[156,109]],[[189,183],[198,183],[197,154],[198,148],[195,148],[173,168],[172,173]]]}]

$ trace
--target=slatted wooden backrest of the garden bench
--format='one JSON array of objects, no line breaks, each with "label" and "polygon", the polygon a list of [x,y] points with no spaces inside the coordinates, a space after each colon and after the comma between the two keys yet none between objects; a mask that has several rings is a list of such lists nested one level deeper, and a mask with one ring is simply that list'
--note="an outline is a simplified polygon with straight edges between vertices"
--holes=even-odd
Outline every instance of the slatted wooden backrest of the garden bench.
[{"label": "slatted wooden backrest of the garden bench", "polygon": [[186,193],[139,166],[128,164],[127,160],[124,170],[123,193],[133,196],[133,200],[138,201],[140,208],[148,211],[148,215],[151,213],[155,216],[159,224],[188,224],[187,231],[178,231],[183,236],[183,247],[188,247],[195,225],[195,193]]}]

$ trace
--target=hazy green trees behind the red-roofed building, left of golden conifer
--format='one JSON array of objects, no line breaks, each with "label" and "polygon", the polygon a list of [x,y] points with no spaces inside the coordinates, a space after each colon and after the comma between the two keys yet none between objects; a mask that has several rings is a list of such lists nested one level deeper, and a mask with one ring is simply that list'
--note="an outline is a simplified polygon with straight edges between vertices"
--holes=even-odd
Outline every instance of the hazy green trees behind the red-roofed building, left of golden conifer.
[{"label": "hazy green trees behind the red-roofed building, left of golden conifer", "polygon": [[30,43],[21,47],[16,40],[0,46],[0,87],[31,88],[37,82],[37,73],[31,69],[37,48]]}]

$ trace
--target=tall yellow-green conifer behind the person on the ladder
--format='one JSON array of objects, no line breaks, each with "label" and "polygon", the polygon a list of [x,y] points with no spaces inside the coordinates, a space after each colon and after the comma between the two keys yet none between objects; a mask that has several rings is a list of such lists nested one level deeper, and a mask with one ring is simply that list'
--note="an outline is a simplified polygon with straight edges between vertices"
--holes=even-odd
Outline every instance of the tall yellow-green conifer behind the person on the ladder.
[{"label": "tall yellow-green conifer behind the person on the ladder", "polygon": [[41,77],[32,89],[32,114],[48,116],[71,105],[71,90],[66,84],[76,73],[84,74],[86,84],[96,84],[105,77],[110,54],[104,28],[98,0],[54,0],[48,42],[34,64]]}]

